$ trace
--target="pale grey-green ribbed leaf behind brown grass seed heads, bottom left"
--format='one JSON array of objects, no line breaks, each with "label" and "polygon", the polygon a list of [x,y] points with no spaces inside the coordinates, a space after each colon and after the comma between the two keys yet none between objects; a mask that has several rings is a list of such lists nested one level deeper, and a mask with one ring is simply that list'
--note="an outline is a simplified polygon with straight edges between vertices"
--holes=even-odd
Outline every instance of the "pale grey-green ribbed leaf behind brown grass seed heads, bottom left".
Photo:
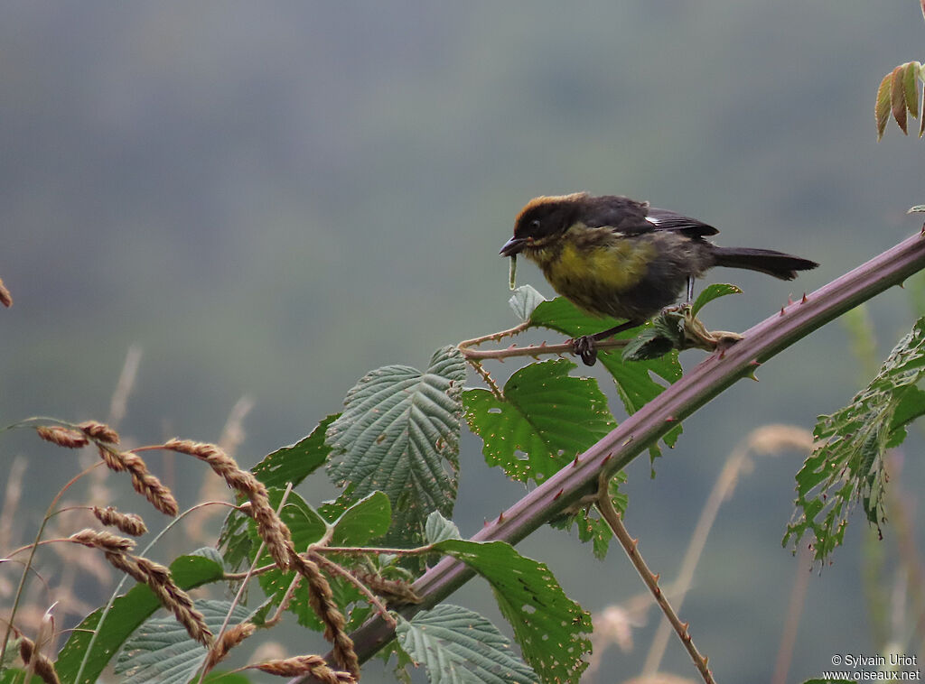
[{"label": "pale grey-green ribbed leaf behind brown grass seed heads, bottom left", "polygon": [[[213,634],[221,629],[229,611],[228,627],[251,617],[247,608],[235,605],[232,609],[228,601],[196,601],[195,606]],[[155,617],[146,620],[126,641],[114,671],[121,681],[132,684],[187,684],[203,665],[206,653],[205,647],[193,641],[176,619]]]}]

